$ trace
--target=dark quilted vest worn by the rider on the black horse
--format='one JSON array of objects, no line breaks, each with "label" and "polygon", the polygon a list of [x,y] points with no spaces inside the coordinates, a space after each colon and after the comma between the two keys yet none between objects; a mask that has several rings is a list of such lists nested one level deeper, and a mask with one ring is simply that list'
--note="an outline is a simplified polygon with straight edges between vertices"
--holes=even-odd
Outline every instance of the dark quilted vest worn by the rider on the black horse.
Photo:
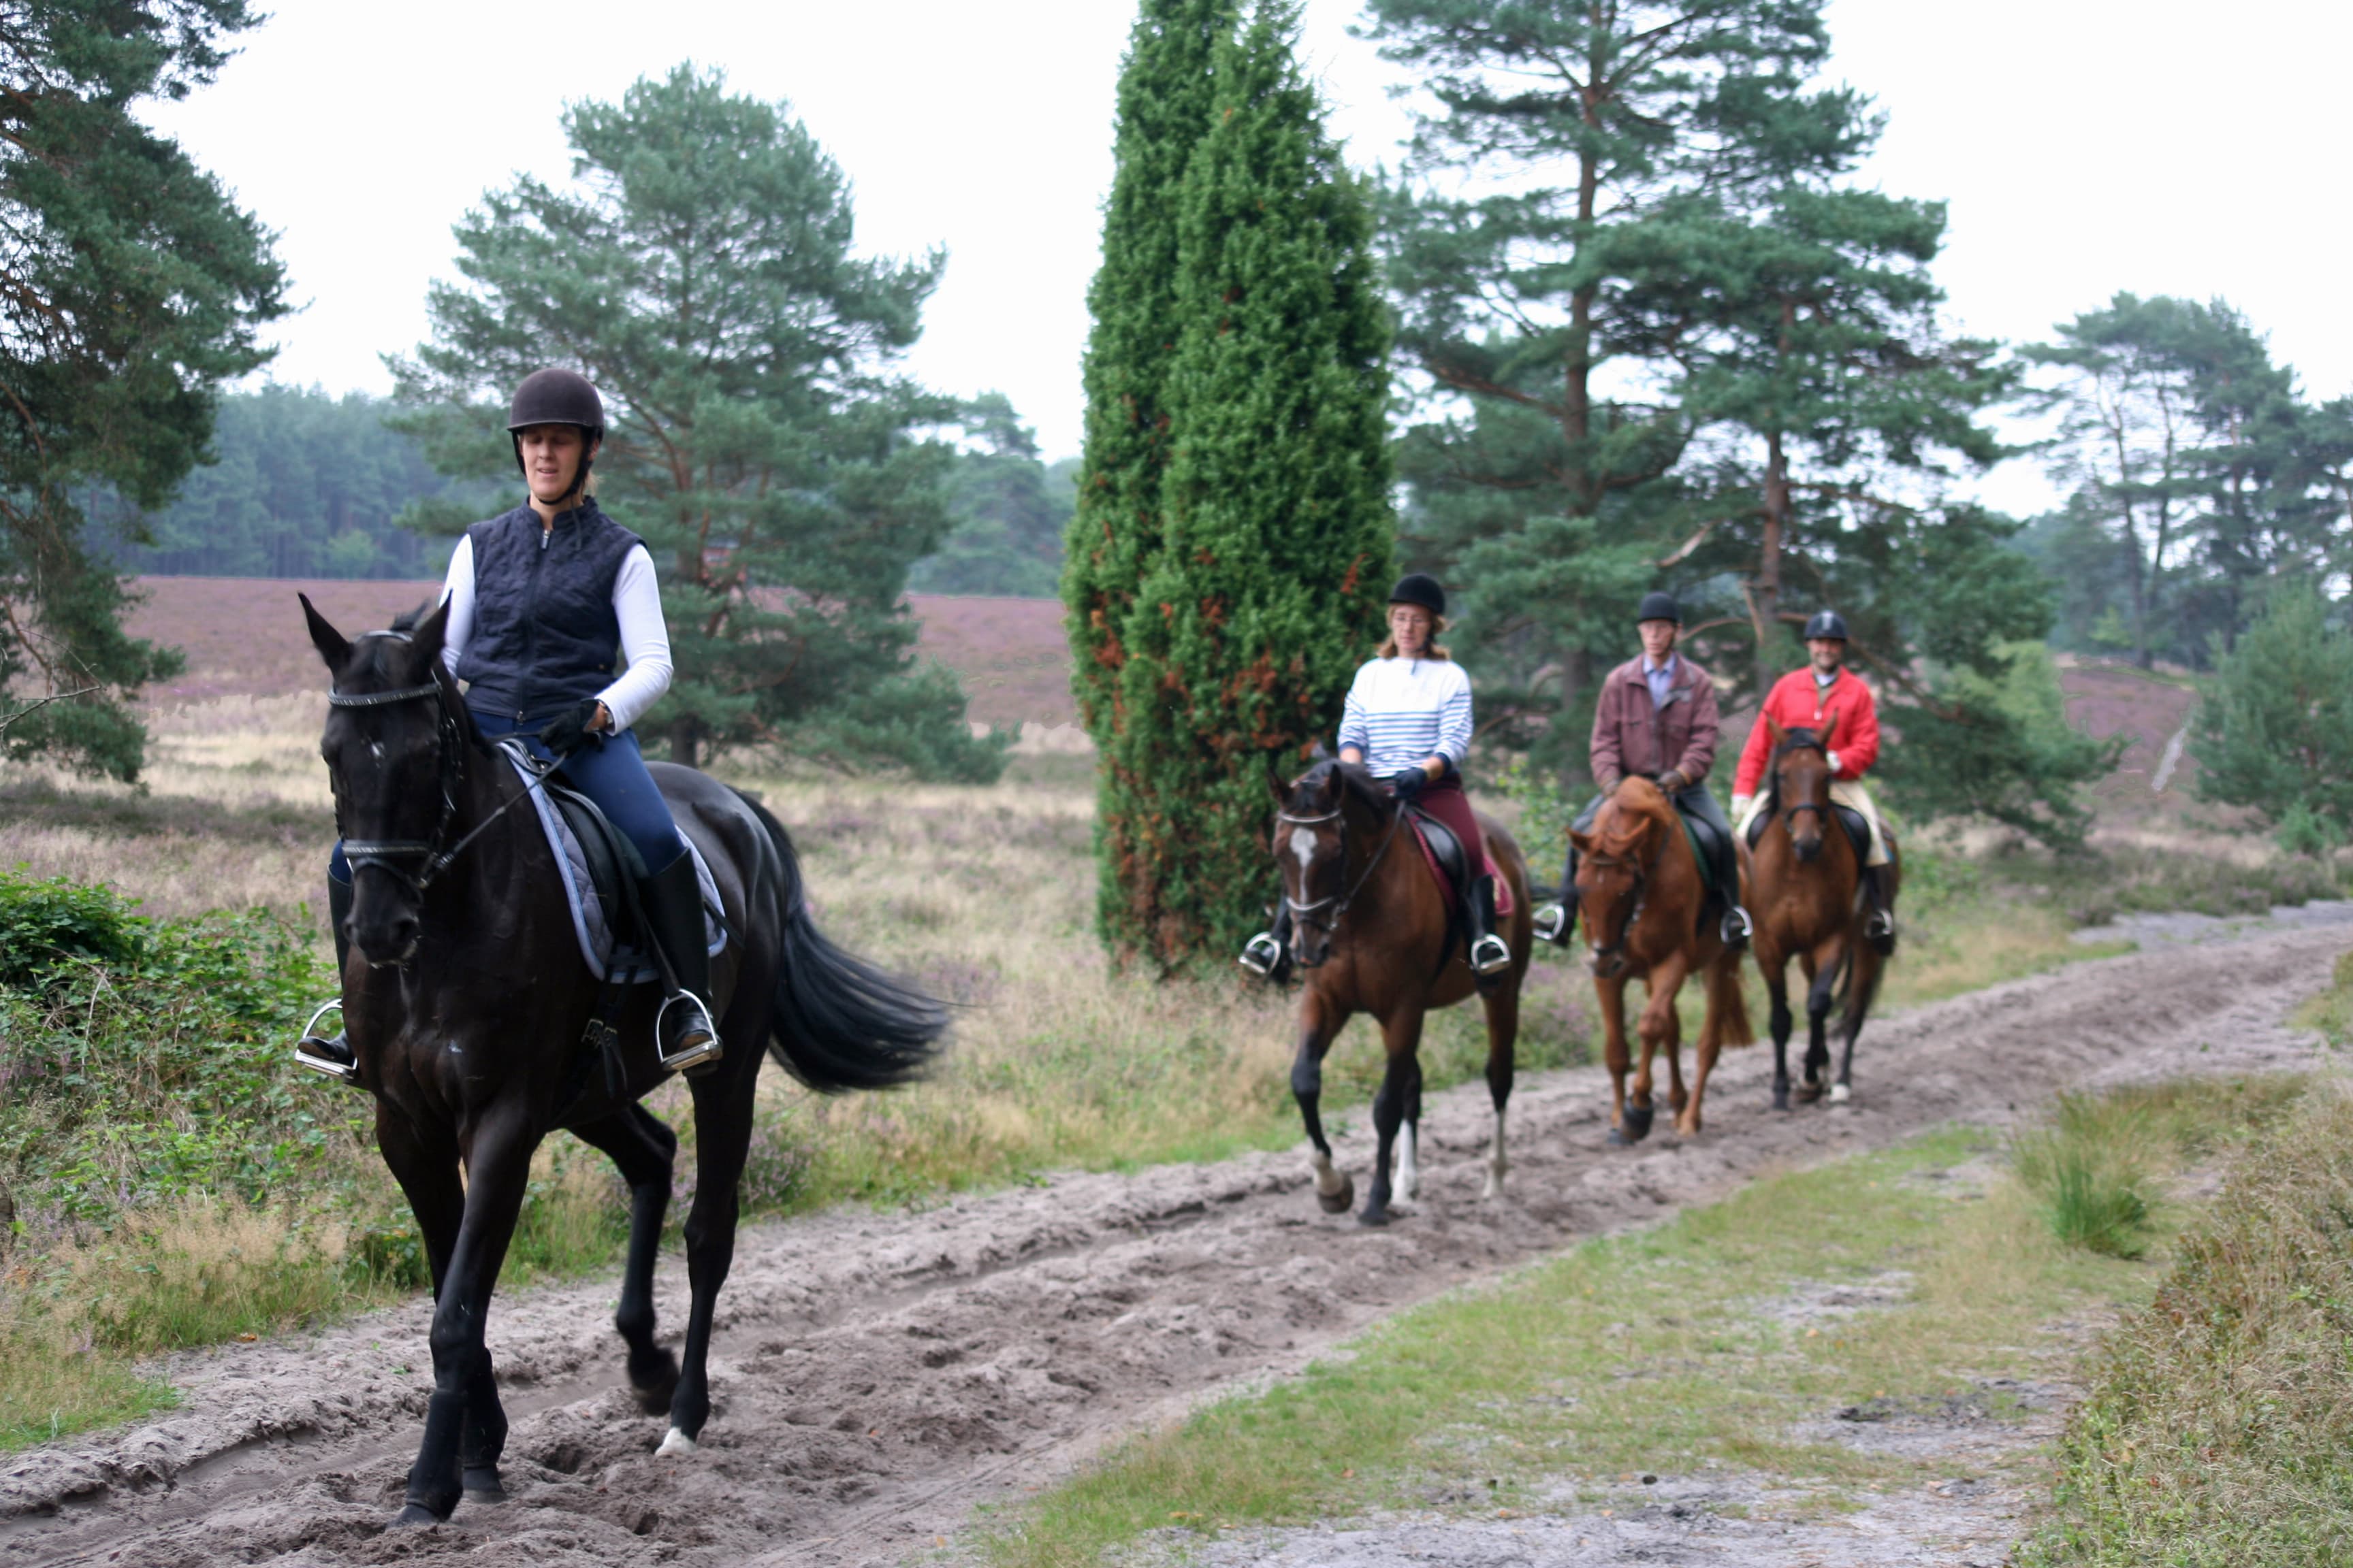
[{"label": "dark quilted vest worn by the rider on the black horse", "polygon": [[466,703],[522,719],[553,715],[612,684],[621,618],[612,585],[635,534],[584,501],[541,531],[518,505],[466,529],[473,541],[473,637],[456,661]]}]

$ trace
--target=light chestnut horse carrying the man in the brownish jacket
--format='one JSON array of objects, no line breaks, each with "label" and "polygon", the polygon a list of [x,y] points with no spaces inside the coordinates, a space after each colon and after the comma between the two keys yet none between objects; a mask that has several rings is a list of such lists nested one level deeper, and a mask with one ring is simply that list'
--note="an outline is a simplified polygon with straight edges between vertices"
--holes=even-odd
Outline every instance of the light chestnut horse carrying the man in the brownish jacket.
[{"label": "light chestnut horse carrying the man in the brownish jacket", "polygon": [[[1706,891],[1682,816],[1659,785],[1624,778],[1577,844],[1577,903],[1593,943],[1593,990],[1602,1006],[1602,1060],[1609,1067],[1609,1143],[1640,1143],[1654,1117],[1652,1056],[1666,1051],[1666,1105],[1675,1131],[1701,1128],[1701,1100],[1722,1046],[1755,1041],[1741,997],[1741,954],[1725,947],[1713,919],[1699,919]],[[1737,889],[1734,889],[1737,891]],[[1675,999],[1699,973],[1708,1011],[1699,1023],[1692,1088],[1682,1088],[1682,1018]],[[1642,1065],[1626,1086],[1626,983],[1642,980],[1649,999],[1635,1032]]]}]

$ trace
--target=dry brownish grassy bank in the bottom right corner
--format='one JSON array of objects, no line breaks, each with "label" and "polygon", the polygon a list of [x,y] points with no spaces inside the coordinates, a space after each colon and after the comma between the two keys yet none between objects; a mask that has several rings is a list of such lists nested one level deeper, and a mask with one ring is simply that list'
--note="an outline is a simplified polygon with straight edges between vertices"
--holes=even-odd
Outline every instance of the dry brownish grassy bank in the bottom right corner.
[{"label": "dry brownish grassy bank in the bottom right corner", "polygon": [[2021,1561],[2353,1561],[2353,1100],[2311,1095],[2238,1159],[2108,1335]]}]

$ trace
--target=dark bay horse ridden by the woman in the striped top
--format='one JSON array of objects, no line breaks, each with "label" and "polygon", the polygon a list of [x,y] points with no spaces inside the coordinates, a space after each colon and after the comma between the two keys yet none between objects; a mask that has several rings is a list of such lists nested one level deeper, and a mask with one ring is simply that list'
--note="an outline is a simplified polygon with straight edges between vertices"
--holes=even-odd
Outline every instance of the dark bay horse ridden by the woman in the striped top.
[{"label": "dark bay horse ridden by the woman in the striped top", "polygon": [[[1322,1058],[1348,1018],[1369,1013],[1381,1025],[1388,1065],[1372,1100],[1379,1152],[1358,1220],[1388,1225],[1388,1206],[1414,1201],[1419,1185],[1421,1018],[1478,990],[1466,957],[1468,938],[1452,933],[1447,893],[1431,875],[1405,820],[1405,804],[1388,785],[1353,762],[1318,762],[1289,783],[1273,780],[1273,851],[1292,912],[1292,961],[1306,973],[1292,1098],[1299,1100],[1299,1117],[1315,1147],[1315,1201],[1325,1213],[1346,1213],[1355,1201],[1355,1182],[1334,1168],[1322,1131]],[[1511,879],[1513,900],[1511,914],[1497,919],[1499,936],[1511,947],[1511,969],[1494,976],[1480,994],[1487,1009],[1487,1095],[1494,1103],[1485,1197],[1497,1197],[1511,1168],[1504,1154],[1504,1107],[1511,1103],[1520,980],[1529,954],[1527,860],[1501,823],[1480,816],[1478,825],[1494,872]]]}]

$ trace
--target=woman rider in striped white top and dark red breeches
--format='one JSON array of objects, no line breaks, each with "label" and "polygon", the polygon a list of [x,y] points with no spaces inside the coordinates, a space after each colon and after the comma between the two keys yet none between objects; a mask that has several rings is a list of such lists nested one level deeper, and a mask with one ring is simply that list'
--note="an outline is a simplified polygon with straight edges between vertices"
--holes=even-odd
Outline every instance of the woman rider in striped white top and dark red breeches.
[{"label": "woman rider in striped white top and dark red breeches", "polygon": [[[1388,642],[1365,661],[1348,686],[1339,722],[1341,762],[1362,764],[1398,799],[1445,823],[1468,858],[1471,971],[1492,980],[1511,969],[1511,947],[1494,933],[1494,867],[1464,795],[1461,764],[1471,752],[1471,677],[1454,663],[1438,632],[1447,630],[1447,590],[1421,571],[1388,590]],[[1242,945],[1242,969],[1280,980],[1289,969],[1292,912],[1273,931]]]}]

